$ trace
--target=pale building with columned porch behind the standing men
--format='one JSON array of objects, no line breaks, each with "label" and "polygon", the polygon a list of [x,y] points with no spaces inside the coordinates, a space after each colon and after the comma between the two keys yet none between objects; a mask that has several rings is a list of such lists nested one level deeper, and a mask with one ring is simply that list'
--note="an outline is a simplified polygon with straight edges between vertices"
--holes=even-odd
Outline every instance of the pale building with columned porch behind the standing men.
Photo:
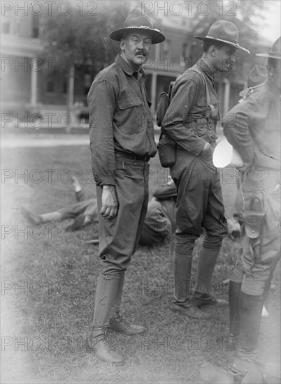
[{"label": "pale building with columned porch behind the standing men", "polygon": [[[94,70],[89,70],[85,63],[72,65],[66,58],[42,57],[43,15],[36,8],[31,9],[31,3],[27,1],[15,3],[21,4],[21,8],[17,5],[19,8],[16,10],[12,3],[12,8],[2,10],[2,127],[17,121],[35,128],[86,127],[87,92],[102,66],[96,64]],[[174,18],[154,17],[154,22],[166,40],[152,46],[150,59],[144,65],[153,113],[159,94],[168,91],[169,83],[192,66],[202,52],[201,41],[192,37],[189,17],[185,13]],[[264,41],[259,44],[257,40],[253,42],[255,52],[267,50],[270,45]],[[246,87],[247,73],[257,64],[254,54],[247,60],[243,53],[237,52],[237,55],[239,70],[216,76],[223,112],[238,102],[239,92]],[[103,64],[106,65],[108,63]]]}]

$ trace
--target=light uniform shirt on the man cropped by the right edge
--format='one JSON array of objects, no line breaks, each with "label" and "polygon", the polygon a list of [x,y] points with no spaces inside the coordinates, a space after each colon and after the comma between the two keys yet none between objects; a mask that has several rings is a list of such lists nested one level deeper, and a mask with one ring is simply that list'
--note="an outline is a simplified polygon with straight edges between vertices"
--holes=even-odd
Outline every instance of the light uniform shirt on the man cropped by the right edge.
[{"label": "light uniform shirt on the man cropped by the right edge", "polygon": [[254,168],[280,169],[280,90],[267,80],[222,121],[224,135]]}]

